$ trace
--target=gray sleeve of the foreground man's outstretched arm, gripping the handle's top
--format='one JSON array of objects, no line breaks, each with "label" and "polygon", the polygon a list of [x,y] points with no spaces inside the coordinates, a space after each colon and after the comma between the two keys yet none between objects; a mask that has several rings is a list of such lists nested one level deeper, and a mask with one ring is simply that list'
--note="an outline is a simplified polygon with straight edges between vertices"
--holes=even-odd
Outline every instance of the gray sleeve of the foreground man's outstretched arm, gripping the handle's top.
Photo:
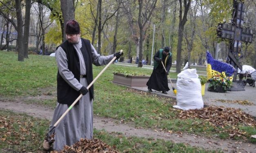
[{"label": "gray sleeve of the foreground man's outstretched arm, gripping the handle's top", "polygon": [[92,55],[92,61],[93,64],[96,66],[103,66],[107,65],[113,58],[114,55],[108,55],[108,56],[100,56],[96,49],[91,44],[91,55]]}]

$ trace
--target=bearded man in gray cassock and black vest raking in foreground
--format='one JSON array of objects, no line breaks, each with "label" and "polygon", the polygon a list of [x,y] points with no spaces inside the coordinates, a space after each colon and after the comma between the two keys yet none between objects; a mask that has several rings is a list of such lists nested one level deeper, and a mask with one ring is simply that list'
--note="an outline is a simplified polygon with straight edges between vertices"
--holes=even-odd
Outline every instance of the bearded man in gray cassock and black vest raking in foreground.
[{"label": "bearded man in gray cassock and black vest raking in foreground", "polygon": [[[56,49],[58,103],[49,129],[80,94],[83,96],[55,128],[53,149],[56,151],[61,151],[65,145],[71,146],[80,138],[93,138],[93,85],[89,90],[86,88],[93,81],[92,64],[106,65],[114,57],[119,59],[121,56],[120,52],[100,56],[89,40],[80,38],[80,26],[76,20],[67,22],[65,33],[67,40]],[[44,140],[43,148],[50,149],[47,140]]]}]

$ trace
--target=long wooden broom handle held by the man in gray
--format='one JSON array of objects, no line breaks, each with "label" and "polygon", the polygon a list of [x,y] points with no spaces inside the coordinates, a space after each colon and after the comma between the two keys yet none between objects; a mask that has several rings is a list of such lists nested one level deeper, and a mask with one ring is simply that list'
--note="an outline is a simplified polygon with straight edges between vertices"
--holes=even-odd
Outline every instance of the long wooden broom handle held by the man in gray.
[{"label": "long wooden broom handle held by the man in gray", "polygon": [[[122,53],[123,50],[120,50],[120,53]],[[116,57],[114,57],[108,64],[107,66],[105,66],[105,68],[97,75],[97,77],[95,79],[93,79],[93,81],[91,81],[91,83],[86,87],[87,90],[89,90],[89,88],[91,87],[91,85],[93,85],[93,83],[101,76],[101,74],[111,65],[111,63],[113,63],[115,61]],[[79,101],[79,99],[82,97],[82,94],[80,94],[78,96],[78,98],[76,98],[76,100],[72,103],[72,105],[69,106],[69,108],[65,111],[64,114],[62,114],[62,116],[60,117],[60,119],[53,125],[53,127],[56,127],[59,122],[64,118],[64,116],[69,112],[69,110]]]}]

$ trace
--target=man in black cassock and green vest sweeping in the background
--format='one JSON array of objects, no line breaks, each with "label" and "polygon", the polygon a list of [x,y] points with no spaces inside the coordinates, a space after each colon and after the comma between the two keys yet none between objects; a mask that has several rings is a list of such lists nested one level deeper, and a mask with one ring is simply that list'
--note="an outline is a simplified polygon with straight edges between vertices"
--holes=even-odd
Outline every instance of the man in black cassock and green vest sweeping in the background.
[{"label": "man in black cassock and green vest sweeping in the background", "polygon": [[[154,55],[154,69],[149,81],[147,81],[149,92],[152,92],[152,89],[154,89],[159,92],[162,91],[163,94],[167,94],[167,91],[170,90],[168,87],[167,75],[169,75],[171,61],[172,57],[169,47],[165,47],[156,52]],[[165,72],[162,62],[164,63],[167,72]]]}]

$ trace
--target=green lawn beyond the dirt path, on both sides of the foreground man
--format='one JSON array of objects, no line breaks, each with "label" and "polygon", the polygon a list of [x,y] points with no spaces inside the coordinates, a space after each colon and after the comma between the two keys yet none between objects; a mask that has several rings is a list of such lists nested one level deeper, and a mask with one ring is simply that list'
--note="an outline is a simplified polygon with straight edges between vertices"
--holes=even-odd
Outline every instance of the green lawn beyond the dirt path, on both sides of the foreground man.
[{"label": "green lawn beyond the dirt path, on both sides of the foreground man", "polygon": [[[0,52],[0,96],[12,98],[15,96],[36,96],[49,94],[49,89],[56,88],[56,62],[54,57],[29,55],[29,59],[18,62],[17,54],[14,52]],[[93,66],[93,75],[97,74],[104,67]],[[114,118],[120,122],[133,122],[136,127],[146,127],[168,132],[183,132],[206,136],[217,136],[227,139],[229,134],[222,132],[221,128],[213,127],[206,120],[192,118],[180,119],[180,110],[173,109],[176,102],[169,98],[160,98],[147,92],[138,92],[127,87],[115,85],[113,72],[119,69],[138,71],[150,75],[152,70],[118,66],[112,64],[102,76],[95,82],[95,99],[93,104],[94,115]],[[170,73],[175,78],[176,73]],[[22,79],[20,79],[22,78]],[[56,98],[47,100],[33,100],[28,103],[38,103],[55,107]],[[232,129],[230,127],[224,127]],[[250,138],[256,134],[255,127],[241,125],[240,129],[245,132],[246,141],[256,143]],[[235,137],[241,139],[241,137]]]}]

